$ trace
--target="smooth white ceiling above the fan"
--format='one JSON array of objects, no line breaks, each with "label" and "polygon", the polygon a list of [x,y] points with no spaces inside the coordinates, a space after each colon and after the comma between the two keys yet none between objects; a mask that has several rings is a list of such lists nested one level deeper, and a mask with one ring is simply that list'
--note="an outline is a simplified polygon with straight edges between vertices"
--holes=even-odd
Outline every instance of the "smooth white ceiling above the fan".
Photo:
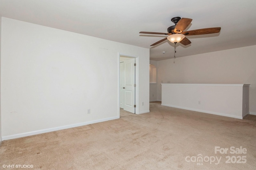
[{"label": "smooth white ceiling above the fan", "polygon": [[[150,48],[151,60],[174,57],[166,36],[171,18],[192,18],[186,30],[221,27],[220,33],[186,36],[176,57],[256,45],[256,0],[0,0],[0,15],[89,36]],[[165,54],[163,54],[165,51]]]}]

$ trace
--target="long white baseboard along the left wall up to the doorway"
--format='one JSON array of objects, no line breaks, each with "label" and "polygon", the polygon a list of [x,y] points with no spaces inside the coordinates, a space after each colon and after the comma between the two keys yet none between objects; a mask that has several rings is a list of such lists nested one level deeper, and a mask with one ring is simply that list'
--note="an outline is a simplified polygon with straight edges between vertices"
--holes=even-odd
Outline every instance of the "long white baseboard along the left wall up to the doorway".
[{"label": "long white baseboard along the left wall up to the doorway", "polygon": [[115,116],[115,117],[111,117],[111,118],[93,120],[93,121],[90,121],[90,122],[82,122],[82,123],[78,123],[78,124],[70,124],[70,125],[66,125],[66,126],[59,126],[59,127],[56,127],[56,128],[48,128],[48,129],[42,129],[42,130],[35,130],[35,131],[32,131],[32,132],[25,132],[25,133],[14,134],[14,135],[9,135],[9,136],[2,136],[2,140],[22,138],[22,137],[25,137],[25,136],[31,136],[31,135],[42,134],[42,133],[47,133],[47,132],[53,132],[53,131],[56,131],[56,130],[75,128],[75,127],[78,127],[78,126],[84,126],[84,125],[88,125],[88,124],[105,122],[105,121],[108,121],[108,120],[114,120],[114,119],[118,119],[118,118],[119,118],[118,116]]}]

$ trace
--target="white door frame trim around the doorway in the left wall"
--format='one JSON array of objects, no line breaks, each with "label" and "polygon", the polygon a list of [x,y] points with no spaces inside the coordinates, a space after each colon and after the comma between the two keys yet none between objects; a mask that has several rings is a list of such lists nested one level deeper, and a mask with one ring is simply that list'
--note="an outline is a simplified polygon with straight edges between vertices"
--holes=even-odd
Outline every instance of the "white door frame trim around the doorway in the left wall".
[{"label": "white door frame trim around the doorway in the left wall", "polygon": [[136,67],[135,67],[135,84],[136,84],[136,88],[135,88],[135,114],[139,114],[139,57],[138,56],[134,56],[134,55],[130,55],[130,54],[123,54],[123,53],[119,53],[118,52],[118,117],[120,118],[120,56],[124,56],[124,57],[130,57],[130,58],[135,58],[135,63],[136,63]]}]

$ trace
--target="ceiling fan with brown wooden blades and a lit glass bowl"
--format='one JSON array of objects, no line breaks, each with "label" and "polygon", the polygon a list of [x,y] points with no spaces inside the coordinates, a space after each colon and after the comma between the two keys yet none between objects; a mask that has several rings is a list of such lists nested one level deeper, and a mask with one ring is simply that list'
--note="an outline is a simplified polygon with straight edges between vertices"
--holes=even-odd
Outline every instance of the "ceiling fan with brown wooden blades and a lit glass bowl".
[{"label": "ceiling fan with brown wooden blades and a lit glass bowl", "polygon": [[160,42],[163,42],[165,40],[169,40],[170,42],[176,43],[180,42],[183,45],[191,44],[190,40],[186,38],[185,36],[194,36],[194,35],[202,35],[202,34],[213,34],[220,32],[220,27],[215,28],[203,28],[198,30],[190,30],[185,31],[184,30],[188,27],[188,25],[191,23],[192,19],[190,18],[180,18],[180,17],[174,17],[171,19],[171,21],[175,24],[174,26],[170,26],[167,31],[168,33],[162,33],[162,32],[140,32],[140,34],[160,34],[160,35],[168,35],[168,37],[155,42],[154,44],[150,46],[154,46],[156,44],[159,44]]}]

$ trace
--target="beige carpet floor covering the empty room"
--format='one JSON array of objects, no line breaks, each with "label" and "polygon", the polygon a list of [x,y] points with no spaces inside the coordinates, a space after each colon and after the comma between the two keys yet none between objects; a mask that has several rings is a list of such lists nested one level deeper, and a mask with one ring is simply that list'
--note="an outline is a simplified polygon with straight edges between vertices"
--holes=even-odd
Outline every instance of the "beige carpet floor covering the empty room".
[{"label": "beige carpet floor covering the empty room", "polygon": [[[120,117],[5,140],[0,146],[0,169],[256,169],[256,121],[170,108],[159,102],[150,103],[150,113],[137,115],[121,110]],[[220,152],[228,150],[215,153],[215,147]]]}]

